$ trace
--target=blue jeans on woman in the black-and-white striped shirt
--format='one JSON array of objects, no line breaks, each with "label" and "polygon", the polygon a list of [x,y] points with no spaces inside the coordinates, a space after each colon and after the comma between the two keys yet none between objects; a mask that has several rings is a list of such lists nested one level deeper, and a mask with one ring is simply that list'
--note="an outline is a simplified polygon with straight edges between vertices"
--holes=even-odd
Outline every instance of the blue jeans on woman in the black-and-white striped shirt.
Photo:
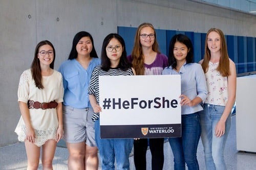
[{"label": "blue jeans on woman in the black-and-white striped shirt", "polygon": [[96,120],[95,140],[102,170],[115,170],[115,158],[117,169],[130,169],[129,155],[133,148],[133,139],[100,139],[99,120]]}]

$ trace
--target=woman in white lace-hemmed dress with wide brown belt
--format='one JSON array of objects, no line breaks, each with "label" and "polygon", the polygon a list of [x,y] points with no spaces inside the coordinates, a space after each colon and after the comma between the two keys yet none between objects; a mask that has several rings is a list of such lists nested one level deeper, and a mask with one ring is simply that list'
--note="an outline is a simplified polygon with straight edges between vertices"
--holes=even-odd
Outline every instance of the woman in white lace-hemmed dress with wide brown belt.
[{"label": "woman in white lace-hemmed dress with wide brown belt", "polygon": [[52,169],[56,144],[63,134],[63,85],[60,72],[53,69],[55,50],[45,40],[37,44],[31,68],[20,76],[18,103],[22,116],[15,132],[19,141],[25,141],[27,169]]}]

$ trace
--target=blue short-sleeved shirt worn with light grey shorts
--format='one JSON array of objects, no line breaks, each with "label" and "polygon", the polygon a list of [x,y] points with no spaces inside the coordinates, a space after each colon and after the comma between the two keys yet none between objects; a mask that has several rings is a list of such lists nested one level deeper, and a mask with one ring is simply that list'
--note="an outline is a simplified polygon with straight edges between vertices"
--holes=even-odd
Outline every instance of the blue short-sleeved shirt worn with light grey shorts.
[{"label": "blue short-sleeved shirt worn with light grey shorts", "polygon": [[61,72],[63,80],[63,105],[77,109],[92,108],[88,86],[93,69],[99,64],[99,58],[92,58],[87,69],[84,69],[76,59],[67,60],[60,65],[58,71]]}]

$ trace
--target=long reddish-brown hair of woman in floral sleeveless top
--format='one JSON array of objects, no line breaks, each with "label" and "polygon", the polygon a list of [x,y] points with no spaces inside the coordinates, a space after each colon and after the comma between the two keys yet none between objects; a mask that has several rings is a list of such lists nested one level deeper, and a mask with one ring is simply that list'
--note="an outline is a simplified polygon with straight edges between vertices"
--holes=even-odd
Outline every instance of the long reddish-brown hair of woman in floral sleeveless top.
[{"label": "long reddish-brown hair of woman in floral sleeveless top", "polygon": [[204,53],[204,60],[202,62],[202,68],[204,70],[204,72],[208,71],[208,64],[210,61],[210,50],[208,48],[207,45],[207,40],[208,40],[208,35],[210,32],[215,31],[216,33],[218,33],[220,35],[221,38],[221,57],[220,57],[220,62],[219,62],[219,66],[217,67],[217,70],[220,72],[221,76],[223,77],[227,77],[230,75],[230,71],[229,71],[229,57],[228,57],[228,53],[227,53],[227,44],[226,44],[226,40],[225,40],[225,36],[223,34],[223,32],[220,29],[217,28],[211,28],[209,29],[209,31],[206,34],[206,38],[205,38],[205,53]]}]

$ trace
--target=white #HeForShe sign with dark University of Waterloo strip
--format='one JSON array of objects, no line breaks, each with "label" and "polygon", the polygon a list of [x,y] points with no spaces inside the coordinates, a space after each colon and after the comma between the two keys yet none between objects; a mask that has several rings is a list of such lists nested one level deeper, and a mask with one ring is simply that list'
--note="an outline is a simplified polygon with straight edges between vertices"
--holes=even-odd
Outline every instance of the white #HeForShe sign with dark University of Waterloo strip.
[{"label": "white #HeForShe sign with dark University of Waterloo strip", "polygon": [[101,138],[178,137],[180,75],[100,76]]}]

